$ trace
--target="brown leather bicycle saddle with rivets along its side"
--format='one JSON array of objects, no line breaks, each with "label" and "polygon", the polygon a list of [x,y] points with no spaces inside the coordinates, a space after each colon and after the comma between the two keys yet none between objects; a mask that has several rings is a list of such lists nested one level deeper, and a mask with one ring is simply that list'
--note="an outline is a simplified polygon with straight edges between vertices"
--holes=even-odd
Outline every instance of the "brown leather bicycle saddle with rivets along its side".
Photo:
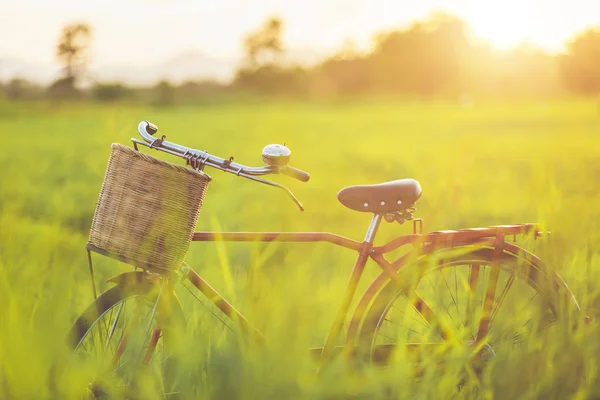
[{"label": "brown leather bicycle saddle with rivets along its side", "polygon": [[421,185],[414,179],[399,179],[378,185],[348,186],[338,193],[346,207],[378,214],[405,210],[421,197]]}]

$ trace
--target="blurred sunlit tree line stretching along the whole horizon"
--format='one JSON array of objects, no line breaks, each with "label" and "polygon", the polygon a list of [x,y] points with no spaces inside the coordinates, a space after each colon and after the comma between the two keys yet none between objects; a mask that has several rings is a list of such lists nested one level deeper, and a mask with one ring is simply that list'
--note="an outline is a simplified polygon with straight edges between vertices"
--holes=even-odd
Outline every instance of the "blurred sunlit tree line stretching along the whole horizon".
[{"label": "blurred sunlit tree line stretching along the whole horizon", "polygon": [[240,94],[329,98],[393,96],[419,99],[600,94],[600,29],[586,30],[550,55],[531,45],[497,51],[474,42],[461,19],[433,13],[410,26],[374,37],[371,50],[346,46],[307,67],[286,60],[284,22],[268,19],[244,39],[245,59],[229,83],[161,81],[148,88],[96,82],[79,88],[85,76],[91,28],[66,26],[56,47],[63,76],[49,87],[23,79],[2,85],[10,99],[87,97],[102,101],[151,99],[168,105]]}]

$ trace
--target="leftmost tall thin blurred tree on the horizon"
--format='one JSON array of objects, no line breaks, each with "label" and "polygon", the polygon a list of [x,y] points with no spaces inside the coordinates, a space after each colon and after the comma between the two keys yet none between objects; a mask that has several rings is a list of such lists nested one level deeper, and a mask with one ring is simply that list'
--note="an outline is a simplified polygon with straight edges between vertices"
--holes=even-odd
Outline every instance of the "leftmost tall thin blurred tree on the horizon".
[{"label": "leftmost tall thin blurred tree on the horizon", "polygon": [[56,46],[56,55],[64,64],[64,82],[74,85],[76,79],[83,74],[90,37],[91,29],[86,24],[71,24],[63,28]]}]

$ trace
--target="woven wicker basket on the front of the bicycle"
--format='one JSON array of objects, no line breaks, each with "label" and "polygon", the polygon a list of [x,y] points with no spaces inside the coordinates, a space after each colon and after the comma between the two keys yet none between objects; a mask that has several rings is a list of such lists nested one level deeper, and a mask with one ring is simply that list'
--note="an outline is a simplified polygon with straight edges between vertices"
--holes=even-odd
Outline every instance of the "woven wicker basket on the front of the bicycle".
[{"label": "woven wicker basket on the front of the bicycle", "polygon": [[112,145],[87,248],[144,269],[181,266],[210,177]]}]

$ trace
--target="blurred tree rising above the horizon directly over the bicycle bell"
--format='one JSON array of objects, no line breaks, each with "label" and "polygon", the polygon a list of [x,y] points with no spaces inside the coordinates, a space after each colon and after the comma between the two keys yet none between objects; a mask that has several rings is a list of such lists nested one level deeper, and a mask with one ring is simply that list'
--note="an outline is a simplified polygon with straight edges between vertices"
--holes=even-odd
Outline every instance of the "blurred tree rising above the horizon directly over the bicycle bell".
[{"label": "blurred tree rising above the horizon directly over the bicycle bell", "polygon": [[265,64],[275,64],[283,53],[281,32],[283,21],[269,18],[256,32],[249,34],[244,40],[244,49],[251,67],[257,68]]}]

